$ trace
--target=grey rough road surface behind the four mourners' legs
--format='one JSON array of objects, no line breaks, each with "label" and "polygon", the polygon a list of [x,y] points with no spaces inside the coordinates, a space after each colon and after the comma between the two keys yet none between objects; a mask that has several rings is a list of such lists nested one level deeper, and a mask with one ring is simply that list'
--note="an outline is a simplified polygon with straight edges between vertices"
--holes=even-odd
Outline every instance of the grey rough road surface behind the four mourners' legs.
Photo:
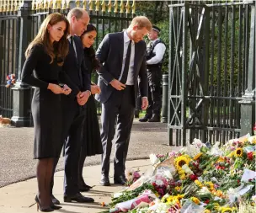
[{"label": "grey rough road surface behind the four mourners' legs", "polygon": [[[173,136],[175,138],[175,136]],[[8,184],[35,178],[36,160],[33,160],[33,128],[0,128],[0,188]],[[115,140],[112,146],[113,159]],[[134,121],[128,160],[145,159],[150,153],[166,153],[179,149],[168,146],[167,124]],[[87,157],[85,166],[97,165],[100,156]],[[63,169],[61,157],[57,170]]]}]

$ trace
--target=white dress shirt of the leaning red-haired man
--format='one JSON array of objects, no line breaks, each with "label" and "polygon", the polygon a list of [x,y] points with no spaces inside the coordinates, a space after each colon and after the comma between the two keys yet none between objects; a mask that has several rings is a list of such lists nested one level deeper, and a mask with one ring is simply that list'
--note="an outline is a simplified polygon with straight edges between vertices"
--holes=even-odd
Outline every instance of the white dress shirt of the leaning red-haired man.
[{"label": "white dress shirt of the leaning red-haired man", "polygon": [[[119,81],[122,78],[123,72],[124,72],[124,68],[125,68],[125,58],[127,55],[127,51],[128,51],[128,45],[130,42],[130,38],[127,35],[126,31],[124,31],[124,53],[123,53],[123,62],[122,62],[122,71],[121,71],[121,75],[119,77]],[[134,56],[135,56],[135,44],[134,41],[131,41],[131,58],[130,58],[130,65],[129,65],[129,70],[128,70],[128,76],[127,76],[127,81],[126,81],[126,85],[134,85]]]}]

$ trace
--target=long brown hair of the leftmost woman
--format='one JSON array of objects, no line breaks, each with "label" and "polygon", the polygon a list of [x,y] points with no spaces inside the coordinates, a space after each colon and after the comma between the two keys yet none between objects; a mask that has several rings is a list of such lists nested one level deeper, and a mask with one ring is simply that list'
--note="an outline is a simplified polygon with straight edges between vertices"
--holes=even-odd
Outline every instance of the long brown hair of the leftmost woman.
[{"label": "long brown hair of the leftmost woman", "polygon": [[[51,44],[50,35],[47,30],[48,24],[54,25],[61,21],[66,23],[66,29],[64,31],[64,35],[61,37],[61,40],[58,42],[54,42],[53,45]],[[43,23],[40,26],[38,34],[35,36],[35,39],[29,44],[27,50],[25,51],[25,56],[28,57],[30,54],[31,49],[35,45],[43,45],[45,48],[46,53],[51,57],[51,62],[53,62],[54,58],[57,56],[58,59],[61,61],[58,62],[59,66],[63,65],[64,58],[67,56],[68,53],[68,41],[67,35],[69,34],[69,22],[67,18],[61,13],[51,13],[48,15]]]}]

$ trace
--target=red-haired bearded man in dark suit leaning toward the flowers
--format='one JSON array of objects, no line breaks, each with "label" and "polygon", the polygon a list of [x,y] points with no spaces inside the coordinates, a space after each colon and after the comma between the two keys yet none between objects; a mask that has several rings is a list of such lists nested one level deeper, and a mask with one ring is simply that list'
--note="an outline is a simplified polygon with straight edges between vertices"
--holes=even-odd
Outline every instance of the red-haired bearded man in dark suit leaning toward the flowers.
[{"label": "red-haired bearded man in dark suit leaning toward the flowers", "polygon": [[[137,16],[123,32],[105,35],[96,58],[102,63],[98,70],[101,93],[96,99],[102,104],[101,140],[102,178],[100,184],[109,185],[109,157],[115,136],[114,182],[125,184],[125,160],[131,136],[136,94],[140,89],[141,109],[147,109],[146,44],[143,37],[152,29],[144,16]],[[140,81],[138,83],[138,77]]]}]

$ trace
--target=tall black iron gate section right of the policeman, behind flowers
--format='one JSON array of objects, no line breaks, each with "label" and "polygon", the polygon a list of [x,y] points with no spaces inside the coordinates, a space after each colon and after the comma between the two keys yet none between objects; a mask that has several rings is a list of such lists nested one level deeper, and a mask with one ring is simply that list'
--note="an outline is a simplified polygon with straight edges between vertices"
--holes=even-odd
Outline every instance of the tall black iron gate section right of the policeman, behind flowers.
[{"label": "tall black iron gate section right of the policeman, behind flowers", "polygon": [[[194,138],[225,142],[246,132],[241,124],[248,125],[251,133],[255,3],[179,2],[170,5],[170,145],[185,146]],[[244,116],[250,124],[241,120],[247,97],[251,112]]]}]

